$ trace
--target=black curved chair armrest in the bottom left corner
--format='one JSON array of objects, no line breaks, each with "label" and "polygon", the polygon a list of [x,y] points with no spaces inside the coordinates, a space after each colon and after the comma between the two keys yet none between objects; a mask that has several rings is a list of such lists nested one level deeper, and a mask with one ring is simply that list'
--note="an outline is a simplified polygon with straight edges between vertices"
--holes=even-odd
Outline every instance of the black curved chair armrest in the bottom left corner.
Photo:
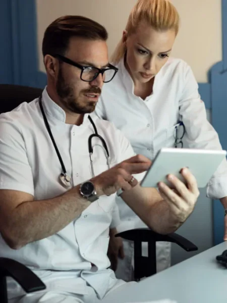
[{"label": "black curved chair armrest in the bottom left corner", "polygon": [[45,284],[25,265],[8,258],[0,258],[0,276],[14,278],[26,292],[46,288]]}]

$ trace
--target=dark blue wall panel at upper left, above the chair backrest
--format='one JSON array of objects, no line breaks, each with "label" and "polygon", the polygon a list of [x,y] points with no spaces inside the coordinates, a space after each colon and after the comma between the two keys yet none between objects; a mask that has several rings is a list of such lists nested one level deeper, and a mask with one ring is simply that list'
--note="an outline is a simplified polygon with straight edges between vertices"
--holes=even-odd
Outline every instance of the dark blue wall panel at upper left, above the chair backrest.
[{"label": "dark blue wall panel at upper left, above the chair backrest", "polygon": [[0,1],[0,83],[44,87],[38,71],[35,0]]}]

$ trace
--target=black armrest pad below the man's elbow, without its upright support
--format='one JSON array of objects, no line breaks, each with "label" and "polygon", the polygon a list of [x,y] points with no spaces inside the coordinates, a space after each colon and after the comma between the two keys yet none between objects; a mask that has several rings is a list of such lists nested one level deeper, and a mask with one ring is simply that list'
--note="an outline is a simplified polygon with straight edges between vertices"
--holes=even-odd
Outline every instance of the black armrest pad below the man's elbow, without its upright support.
[{"label": "black armrest pad below the man's elbow, without its upright support", "polygon": [[167,235],[162,235],[159,233],[150,230],[149,228],[136,228],[131,230],[126,230],[116,234],[116,237],[122,237],[123,239],[135,241],[140,240],[141,242],[149,242],[149,241],[165,241],[176,243],[186,251],[195,251],[198,250],[198,247],[193,244],[188,239],[180,236],[177,233],[170,233]]}]

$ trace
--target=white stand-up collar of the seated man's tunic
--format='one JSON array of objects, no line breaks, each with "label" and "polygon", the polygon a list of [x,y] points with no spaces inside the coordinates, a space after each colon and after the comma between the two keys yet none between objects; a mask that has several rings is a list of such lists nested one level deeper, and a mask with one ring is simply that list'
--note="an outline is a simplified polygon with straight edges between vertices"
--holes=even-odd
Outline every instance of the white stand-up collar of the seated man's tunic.
[{"label": "white stand-up collar of the seated man's tunic", "polygon": [[[46,115],[48,115],[52,120],[55,120],[55,122],[66,124],[65,111],[50,98],[46,87],[42,92],[42,103]],[[88,116],[89,114],[84,115],[83,123],[81,125],[85,125],[87,121],[89,121]]]}]

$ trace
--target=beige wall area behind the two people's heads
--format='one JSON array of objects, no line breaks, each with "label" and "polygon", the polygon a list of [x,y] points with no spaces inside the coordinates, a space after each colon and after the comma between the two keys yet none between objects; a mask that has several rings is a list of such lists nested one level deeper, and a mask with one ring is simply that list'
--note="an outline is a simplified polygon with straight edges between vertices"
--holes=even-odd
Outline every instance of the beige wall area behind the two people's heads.
[{"label": "beige wall area behind the two people's heads", "polygon": [[[221,0],[172,0],[181,16],[181,29],[173,56],[187,61],[198,82],[207,82],[207,71],[221,61]],[[136,0],[36,0],[39,68],[45,28],[54,19],[83,15],[104,25],[109,33],[109,54],[121,38]]]}]

